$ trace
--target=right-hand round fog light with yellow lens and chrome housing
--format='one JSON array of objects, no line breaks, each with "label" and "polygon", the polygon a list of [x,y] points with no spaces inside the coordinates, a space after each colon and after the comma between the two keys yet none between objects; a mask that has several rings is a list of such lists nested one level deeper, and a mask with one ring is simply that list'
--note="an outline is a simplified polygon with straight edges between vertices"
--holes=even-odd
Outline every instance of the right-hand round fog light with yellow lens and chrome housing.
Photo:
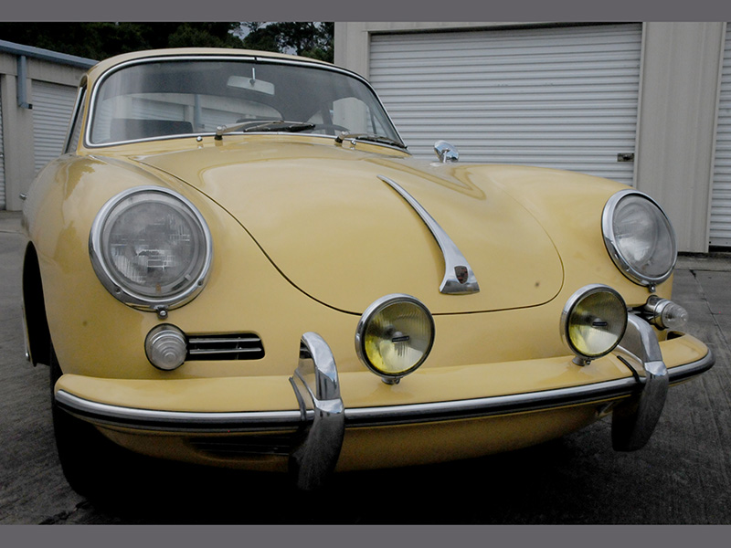
[{"label": "right-hand round fog light with yellow lens and chrome housing", "polygon": [[577,290],[561,314],[561,336],[575,364],[586,365],[610,353],[627,329],[627,305],[620,293],[600,284]]}]

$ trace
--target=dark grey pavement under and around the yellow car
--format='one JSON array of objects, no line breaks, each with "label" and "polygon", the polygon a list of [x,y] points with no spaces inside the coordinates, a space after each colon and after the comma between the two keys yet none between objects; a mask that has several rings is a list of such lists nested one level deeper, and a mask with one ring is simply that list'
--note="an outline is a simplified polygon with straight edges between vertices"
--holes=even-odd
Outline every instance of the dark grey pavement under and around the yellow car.
[{"label": "dark grey pavement under and around the yellow car", "polygon": [[731,524],[731,255],[682,256],[673,300],[713,369],[675,386],[645,448],[610,422],[535,448],[342,474],[318,497],[229,470],[150,462],[144,493],[87,501],[61,473],[48,368],[23,355],[20,216],[0,211],[0,524]]}]

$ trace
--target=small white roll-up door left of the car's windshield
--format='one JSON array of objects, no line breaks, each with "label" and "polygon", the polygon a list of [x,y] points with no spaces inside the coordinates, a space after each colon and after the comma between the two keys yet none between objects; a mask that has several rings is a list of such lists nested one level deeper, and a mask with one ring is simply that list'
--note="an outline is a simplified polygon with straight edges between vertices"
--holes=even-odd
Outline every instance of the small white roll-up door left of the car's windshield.
[{"label": "small white roll-up door left of the car's windshield", "polygon": [[33,81],[33,143],[36,172],[62,153],[77,89]]}]

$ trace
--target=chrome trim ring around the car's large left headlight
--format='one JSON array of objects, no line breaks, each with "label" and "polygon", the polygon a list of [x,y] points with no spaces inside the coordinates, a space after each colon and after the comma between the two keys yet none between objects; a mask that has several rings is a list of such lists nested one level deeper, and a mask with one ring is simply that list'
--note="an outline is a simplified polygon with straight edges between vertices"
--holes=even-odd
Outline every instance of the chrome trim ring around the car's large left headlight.
[{"label": "chrome trim ring around the car's large left headlight", "polygon": [[[115,207],[117,207],[117,205],[122,204],[122,202],[130,196],[143,194],[158,194],[172,197],[182,206],[181,213],[188,216],[191,221],[196,223],[197,228],[200,229],[203,235],[204,248],[201,268],[194,273],[195,277],[190,279],[189,283],[187,283],[182,290],[175,290],[172,294],[164,297],[150,297],[134,291],[129,287],[125,287],[122,280],[115,275],[106,260],[104,260],[102,237],[111,212]],[[211,237],[210,230],[208,229],[206,219],[203,218],[196,206],[184,196],[161,186],[136,186],[115,195],[101,207],[99,213],[94,218],[93,224],[91,225],[89,234],[89,256],[91,266],[93,267],[97,277],[100,279],[101,284],[115,299],[121,300],[124,304],[135,308],[146,311],[157,311],[160,313],[161,311],[183,306],[190,300],[195,299],[197,294],[203,290],[213,261],[213,238]]]}]

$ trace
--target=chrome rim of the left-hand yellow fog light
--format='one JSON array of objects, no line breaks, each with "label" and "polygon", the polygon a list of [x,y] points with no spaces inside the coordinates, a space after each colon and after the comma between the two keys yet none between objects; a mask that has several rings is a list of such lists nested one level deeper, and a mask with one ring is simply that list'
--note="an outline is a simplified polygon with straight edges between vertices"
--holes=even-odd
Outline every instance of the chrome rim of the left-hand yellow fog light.
[{"label": "chrome rim of the left-hand yellow fog light", "polygon": [[[416,307],[419,311],[422,311],[428,321],[429,324],[429,342],[427,344],[427,347],[423,351],[423,355],[421,358],[415,363],[412,364],[407,369],[398,371],[397,373],[390,373],[387,371],[384,371],[382,369],[379,369],[376,367],[375,364],[373,364],[368,357],[368,353],[366,351],[365,345],[366,345],[366,331],[368,330],[369,325],[371,322],[376,318],[376,316],[381,312],[387,309],[387,307],[399,303],[406,303],[408,305]],[[355,330],[355,353],[357,353],[358,358],[361,362],[367,367],[371,372],[377,374],[381,377],[381,379],[387,383],[388,385],[395,385],[397,384],[403,377],[405,377],[408,374],[413,373],[418,369],[418,367],[423,364],[427,357],[429,357],[429,353],[431,352],[431,348],[434,345],[434,335],[435,335],[435,325],[434,325],[434,318],[431,315],[431,312],[427,308],[427,306],[418,300],[415,297],[412,297],[410,295],[406,295],[403,293],[393,293],[391,295],[386,295],[384,297],[381,297],[380,299],[374,301],[367,309],[365,309],[365,312],[363,312],[363,315],[360,318],[360,321],[358,321],[357,328]]]}]

